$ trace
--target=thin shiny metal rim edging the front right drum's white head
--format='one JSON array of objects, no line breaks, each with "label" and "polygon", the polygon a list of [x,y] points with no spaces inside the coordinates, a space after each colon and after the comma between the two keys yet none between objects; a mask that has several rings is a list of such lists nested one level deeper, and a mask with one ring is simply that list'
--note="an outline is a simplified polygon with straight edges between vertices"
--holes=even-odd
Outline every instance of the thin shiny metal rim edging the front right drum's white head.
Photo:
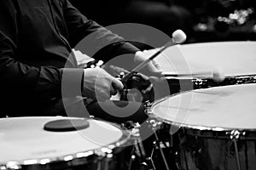
[{"label": "thin shiny metal rim edging the front right drum's white head", "polygon": [[[239,84],[241,85],[241,84]],[[236,85],[230,85],[230,86],[236,86]],[[224,86],[219,86],[219,87],[224,87]],[[218,88],[218,87],[214,87],[214,88]],[[167,120],[165,118],[161,118],[160,116],[156,116],[154,114],[154,112],[152,111],[153,107],[157,104],[159,104],[160,102],[166,100],[166,99],[170,99],[173,96],[176,95],[180,95],[180,94],[186,94],[195,90],[200,90],[200,89],[207,89],[207,88],[199,88],[199,89],[194,89],[194,90],[188,90],[188,91],[184,91],[181,93],[177,93],[177,94],[172,94],[172,95],[168,95],[164,98],[161,99],[157,99],[155,100],[150,109],[147,112],[148,116],[151,118],[154,118],[156,120],[158,120],[159,122],[165,122],[167,124],[170,124],[172,126],[176,126],[176,127],[185,127],[185,128],[190,128],[193,130],[201,130],[201,131],[215,131],[215,132],[225,132],[225,133],[230,133],[231,131],[237,130],[239,132],[250,132],[250,133],[256,133],[256,128],[231,128],[231,127],[210,127],[210,126],[198,126],[195,124],[186,124],[186,123],[182,123],[182,122],[173,122],[171,120]]]}]

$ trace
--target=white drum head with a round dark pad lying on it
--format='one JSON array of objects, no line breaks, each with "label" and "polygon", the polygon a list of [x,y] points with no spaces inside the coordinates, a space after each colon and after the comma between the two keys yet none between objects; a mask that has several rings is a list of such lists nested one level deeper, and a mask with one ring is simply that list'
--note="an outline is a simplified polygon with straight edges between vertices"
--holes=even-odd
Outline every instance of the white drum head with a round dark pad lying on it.
[{"label": "white drum head with a round dark pad lying on it", "polygon": [[58,119],[64,117],[0,119],[0,165],[11,164],[13,161],[19,165],[61,161],[61,159],[65,160],[65,156],[66,159],[72,159],[79,153],[99,150],[109,144],[116,147],[130,137],[124,137],[119,127],[96,120],[88,120],[90,127],[79,131],[44,130],[46,122]]}]

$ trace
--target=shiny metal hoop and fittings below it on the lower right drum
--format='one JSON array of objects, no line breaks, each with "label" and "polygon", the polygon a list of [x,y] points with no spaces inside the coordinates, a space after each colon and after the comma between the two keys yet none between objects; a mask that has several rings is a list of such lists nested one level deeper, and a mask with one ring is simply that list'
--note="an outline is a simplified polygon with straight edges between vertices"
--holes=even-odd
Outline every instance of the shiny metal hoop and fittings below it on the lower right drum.
[{"label": "shiny metal hoop and fittings below it on the lower right drum", "polygon": [[[198,90],[198,89],[195,89],[195,90]],[[153,102],[152,106],[150,107],[150,109],[148,111],[146,111],[148,116],[150,118],[156,119],[159,122],[164,122],[166,124],[169,124],[169,125],[172,125],[172,126],[175,126],[175,127],[182,127],[183,129],[187,129],[186,131],[188,131],[188,129],[189,129],[189,132],[198,133],[198,135],[196,135],[196,136],[200,136],[200,134],[201,134],[200,132],[202,132],[202,133],[212,133],[212,132],[214,132],[216,134],[221,134],[220,138],[226,139],[228,134],[230,134],[232,131],[236,130],[236,131],[241,132],[241,133],[247,133],[246,134],[246,136],[248,136],[247,139],[256,139],[256,128],[250,129],[250,128],[209,127],[209,126],[198,126],[198,125],[195,125],[195,124],[186,124],[186,123],[182,123],[182,122],[173,122],[171,120],[167,120],[165,118],[161,118],[159,116],[156,116],[154,114],[154,112],[152,111],[153,107],[155,105],[159,104],[160,102],[162,102],[166,99],[170,99],[173,96],[176,96],[176,95],[179,95],[179,94],[189,93],[191,91],[194,91],[194,90],[188,90],[188,91],[185,91],[185,92],[168,95],[168,96],[166,96],[162,99],[155,100]],[[205,135],[201,135],[201,136],[205,136]],[[223,137],[221,137],[221,136],[223,136]]]}]

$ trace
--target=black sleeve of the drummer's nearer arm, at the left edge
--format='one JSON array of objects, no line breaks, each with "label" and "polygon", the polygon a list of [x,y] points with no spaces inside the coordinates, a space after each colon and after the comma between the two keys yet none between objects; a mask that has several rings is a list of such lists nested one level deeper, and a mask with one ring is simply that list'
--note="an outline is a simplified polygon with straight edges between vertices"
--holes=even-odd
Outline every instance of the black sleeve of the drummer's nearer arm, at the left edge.
[{"label": "black sleeve of the drummer's nearer arm, at the left edge", "polygon": [[[19,61],[18,11],[15,1],[0,0],[0,77],[1,94],[37,94],[38,98],[51,99],[61,96],[63,70],[53,66],[32,66]],[[71,81],[77,77],[79,83],[83,70],[70,69]],[[75,75],[75,76],[74,76]],[[67,83],[72,83],[68,82]],[[78,83],[78,82],[76,82]]]}]

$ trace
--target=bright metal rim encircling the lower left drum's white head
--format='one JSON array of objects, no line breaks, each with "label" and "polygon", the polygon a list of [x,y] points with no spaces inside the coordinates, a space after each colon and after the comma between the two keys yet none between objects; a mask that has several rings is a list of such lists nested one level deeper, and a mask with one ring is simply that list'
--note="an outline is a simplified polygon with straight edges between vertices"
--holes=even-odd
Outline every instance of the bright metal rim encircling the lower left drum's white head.
[{"label": "bright metal rim encircling the lower left drum's white head", "polygon": [[[28,117],[28,116],[27,116]],[[3,119],[12,119],[12,118],[27,118],[25,117],[4,117]],[[81,117],[65,117],[65,116],[29,116],[29,118],[36,117],[44,117],[44,118],[53,118],[53,117],[62,117],[62,118],[81,118]],[[84,119],[84,118],[81,118]],[[125,127],[122,127],[114,122],[108,122],[105,120],[102,120],[100,118],[89,118],[93,121],[100,121],[100,122],[106,122],[109,125],[112,125],[113,127],[119,128],[119,130],[122,132],[122,136],[119,138],[119,140],[107,144],[105,146],[101,146],[94,150],[81,150],[76,153],[68,154],[65,156],[58,156],[58,157],[44,157],[44,158],[38,158],[38,159],[29,159],[29,160],[20,160],[20,161],[7,161],[6,163],[0,163],[0,169],[23,169],[24,166],[28,167],[36,167],[37,169],[51,169],[51,165],[55,163],[64,163],[67,165],[67,167],[71,167],[73,163],[76,165],[85,165],[88,163],[88,161],[84,161],[90,156],[96,156],[97,159],[102,160],[103,158],[108,158],[109,155],[115,154],[119,152],[119,150],[122,146],[124,146],[126,143],[129,143],[131,141],[131,133],[128,132]],[[96,161],[94,159],[93,161]],[[41,167],[39,167],[41,166]]]}]

